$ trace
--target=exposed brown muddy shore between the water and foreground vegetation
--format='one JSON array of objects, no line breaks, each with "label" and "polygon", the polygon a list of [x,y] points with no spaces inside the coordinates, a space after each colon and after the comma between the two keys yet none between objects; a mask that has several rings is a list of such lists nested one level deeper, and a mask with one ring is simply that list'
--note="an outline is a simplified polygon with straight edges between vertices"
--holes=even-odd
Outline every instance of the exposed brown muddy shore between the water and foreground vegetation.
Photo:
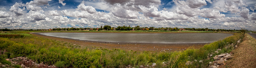
[{"label": "exposed brown muddy shore between the water and foreground vegetation", "polygon": [[[32,34],[38,37],[49,38],[58,41],[70,42],[73,44],[78,44],[87,47],[101,47],[106,49],[122,49],[122,50],[132,50],[132,51],[150,51],[150,52],[160,52],[160,51],[182,51],[189,47],[201,48],[205,44],[209,43],[193,43],[193,44],[156,44],[156,43],[113,43],[113,42],[98,42],[98,41],[87,41],[87,40],[76,40],[69,38],[60,38],[45,36],[40,34]],[[155,47],[155,48],[154,48]],[[168,49],[168,50],[166,50]],[[172,49],[172,50],[170,50]]]}]

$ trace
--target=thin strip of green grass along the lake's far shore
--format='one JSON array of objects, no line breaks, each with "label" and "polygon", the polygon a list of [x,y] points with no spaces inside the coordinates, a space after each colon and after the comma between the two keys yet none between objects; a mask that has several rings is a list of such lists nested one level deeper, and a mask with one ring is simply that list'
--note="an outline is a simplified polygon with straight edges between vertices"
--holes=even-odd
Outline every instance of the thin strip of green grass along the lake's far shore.
[{"label": "thin strip of green grass along the lake's far shore", "polygon": [[85,30],[75,30],[75,31],[15,31],[21,33],[28,33],[28,32],[86,32],[86,33],[218,33],[213,31],[85,31]]}]

